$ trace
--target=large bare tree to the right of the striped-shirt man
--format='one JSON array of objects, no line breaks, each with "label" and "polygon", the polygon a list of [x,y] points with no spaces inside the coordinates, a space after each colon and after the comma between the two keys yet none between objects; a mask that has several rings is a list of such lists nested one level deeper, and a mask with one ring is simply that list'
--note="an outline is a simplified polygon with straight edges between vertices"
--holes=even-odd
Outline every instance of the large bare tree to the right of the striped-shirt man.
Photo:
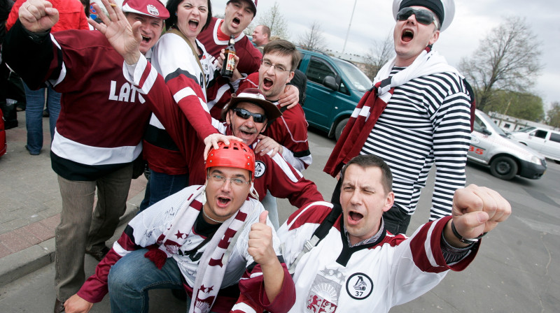
[{"label": "large bare tree to the right of the striped-shirt man", "polygon": [[541,46],[524,17],[507,17],[492,29],[472,57],[459,65],[475,89],[477,107],[490,104],[498,89],[528,91],[542,70]]}]

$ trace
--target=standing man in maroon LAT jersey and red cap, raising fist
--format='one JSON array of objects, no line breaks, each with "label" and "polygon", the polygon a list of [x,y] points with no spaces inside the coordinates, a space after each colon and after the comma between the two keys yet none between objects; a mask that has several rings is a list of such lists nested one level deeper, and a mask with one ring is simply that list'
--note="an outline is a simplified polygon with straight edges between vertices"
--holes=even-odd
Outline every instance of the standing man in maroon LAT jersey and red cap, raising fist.
[{"label": "standing man in maroon LAT jersey and red cap, raising fist", "polygon": [[[125,0],[123,10],[127,22],[139,24],[139,50],[148,54],[169,13],[158,0]],[[62,92],[50,152],[62,196],[55,247],[55,312],[61,312],[84,282],[84,252],[101,260],[109,250],[105,241],[125,212],[132,161],[141,157],[150,110],[123,77],[123,57],[102,33],[50,34],[59,12],[44,0],[28,0],[19,14],[3,59],[31,89],[47,84]]]}]

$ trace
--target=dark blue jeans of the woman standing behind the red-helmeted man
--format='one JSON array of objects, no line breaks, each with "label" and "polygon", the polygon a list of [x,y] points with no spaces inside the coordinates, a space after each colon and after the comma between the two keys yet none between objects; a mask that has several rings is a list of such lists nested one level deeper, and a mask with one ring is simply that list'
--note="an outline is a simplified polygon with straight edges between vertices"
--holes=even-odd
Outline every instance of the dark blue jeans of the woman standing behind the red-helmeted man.
[{"label": "dark blue jeans of the woman standing behind the red-helmeted man", "polygon": [[186,187],[188,187],[188,174],[169,175],[150,169],[150,180],[146,184],[146,194],[140,204],[139,212]]}]

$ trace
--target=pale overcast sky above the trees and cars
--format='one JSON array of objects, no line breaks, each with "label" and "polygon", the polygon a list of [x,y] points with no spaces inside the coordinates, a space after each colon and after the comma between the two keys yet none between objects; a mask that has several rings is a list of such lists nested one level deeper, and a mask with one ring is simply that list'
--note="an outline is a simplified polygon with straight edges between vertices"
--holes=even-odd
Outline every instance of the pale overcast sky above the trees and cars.
[{"label": "pale overcast sky above the trees and cars", "polygon": [[[351,20],[352,8],[356,9]],[[374,41],[382,41],[395,26],[391,0],[279,0],[279,9],[288,24],[290,40],[297,41],[311,23],[321,24],[328,49],[342,51],[344,38],[346,53],[365,54]],[[214,14],[223,15],[228,0],[212,0]],[[272,0],[258,1],[257,22],[272,6]],[[470,57],[482,38],[503,22],[507,16],[525,17],[535,41],[542,43],[541,62],[544,69],[532,92],[547,105],[560,101],[560,1],[556,0],[456,0],[455,16],[448,29],[440,34],[434,49],[449,64],[458,66],[462,57]]]}]

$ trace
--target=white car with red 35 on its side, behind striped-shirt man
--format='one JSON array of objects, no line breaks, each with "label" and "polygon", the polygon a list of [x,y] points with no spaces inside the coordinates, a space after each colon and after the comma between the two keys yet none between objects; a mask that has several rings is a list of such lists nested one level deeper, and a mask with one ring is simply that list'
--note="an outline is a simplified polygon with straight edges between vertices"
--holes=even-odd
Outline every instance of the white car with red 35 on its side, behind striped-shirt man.
[{"label": "white car with red 35 on its side, behind striped-shirt man", "polygon": [[511,180],[515,175],[538,180],[547,170],[545,157],[507,135],[481,110],[476,110],[469,161],[490,167],[492,175]]}]

